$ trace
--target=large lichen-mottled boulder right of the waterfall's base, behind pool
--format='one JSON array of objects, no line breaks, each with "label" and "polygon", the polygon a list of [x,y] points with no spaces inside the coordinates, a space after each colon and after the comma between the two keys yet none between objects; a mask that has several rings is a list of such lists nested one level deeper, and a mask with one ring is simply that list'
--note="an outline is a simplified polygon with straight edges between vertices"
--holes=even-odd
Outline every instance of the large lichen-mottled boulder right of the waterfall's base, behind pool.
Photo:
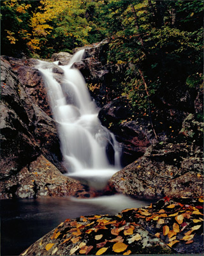
[{"label": "large lichen-mottled boulder right of the waterfall's base, behind pool", "polygon": [[[152,145],[143,157],[115,173],[109,184],[118,193],[142,198],[201,195],[203,176],[197,175],[200,167],[194,164],[193,172],[189,174],[186,170],[190,151],[191,148],[184,143]],[[202,157],[198,158],[201,163]]]}]

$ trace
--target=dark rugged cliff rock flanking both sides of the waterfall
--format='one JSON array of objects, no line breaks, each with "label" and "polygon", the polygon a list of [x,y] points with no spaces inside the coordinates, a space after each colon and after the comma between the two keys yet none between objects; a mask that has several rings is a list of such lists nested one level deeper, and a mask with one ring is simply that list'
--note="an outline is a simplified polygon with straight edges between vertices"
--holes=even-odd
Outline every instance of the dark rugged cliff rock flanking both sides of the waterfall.
[{"label": "dark rugged cliff rock flanking both sides of the waterfall", "polygon": [[[75,51],[78,50],[75,49]],[[131,111],[128,98],[116,97],[117,92],[114,91],[115,84],[112,84],[112,78],[115,77],[115,81],[119,84],[124,78],[124,71],[127,67],[108,63],[107,51],[108,40],[85,47],[84,60],[74,63],[73,67],[82,72],[92,98],[101,108],[99,111],[101,123],[110,129],[119,141],[122,148],[122,165],[127,166],[133,163],[114,175],[110,181],[110,187],[128,195],[148,197],[161,197],[167,193],[167,187],[167,190],[164,190],[167,184],[170,188],[175,188],[175,184],[177,186],[180,183],[186,182],[187,184],[189,180],[194,180],[194,184],[198,184],[200,188],[203,179],[197,174],[201,172],[203,147],[202,89],[191,93],[182,91],[184,88],[175,87],[178,92],[175,93],[174,100],[171,100],[172,95],[168,97],[168,95],[158,94],[156,107],[152,111],[152,122],[158,138],[156,140],[149,116],[135,116]],[[60,52],[54,54],[52,61],[59,60],[59,65],[66,65],[70,58],[71,54]],[[48,170],[48,164],[52,166],[54,173],[59,171],[64,173],[66,170],[62,165],[59,136],[48,104],[45,84],[35,67],[37,62],[34,59],[20,60],[7,56],[1,57],[1,198],[69,195],[68,188],[59,189],[60,192],[56,193],[54,184],[52,182],[47,184],[45,181],[46,173],[51,172],[50,169]],[[52,68],[57,81],[61,83],[62,68],[54,63],[48,63],[48,65]],[[186,107],[187,102],[191,103],[189,103],[191,108]],[[161,143],[162,141],[165,143]],[[156,146],[152,146],[155,144]],[[176,150],[177,157],[175,158],[173,158],[171,145],[173,148],[182,148],[182,150]],[[154,156],[155,150],[158,157]],[[163,154],[164,151],[167,152],[166,155]],[[110,145],[108,145],[107,152],[111,156]],[[191,163],[187,161],[189,158],[192,159]],[[142,169],[137,168],[137,163],[134,164],[137,159],[142,163],[139,164]],[[179,159],[179,162],[175,163],[174,159]],[[185,168],[182,167],[184,163],[188,164]],[[35,172],[31,165],[42,166],[43,172]],[[164,173],[169,168],[173,170],[173,174],[167,175],[166,180],[163,180]],[[190,174],[188,174],[189,171]],[[149,172],[150,174],[147,175]],[[39,175],[44,177],[43,182],[41,182],[43,179],[40,181]],[[141,175],[143,181],[140,179]],[[153,179],[155,181],[153,187],[151,182],[145,181],[150,180],[151,175],[158,178]],[[184,180],[182,175],[186,175]],[[140,184],[140,188],[132,184],[127,177],[134,177],[135,182],[132,183]],[[33,182],[28,182],[29,179]],[[76,189],[70,192],[70,195],[77,193],[78,189],[82,189],[84,194],[87,193],[87,188],[82,188],[79,182],[68,179],[68,177],[64,180],[61,175],[59,179],[73,186],[77,184]],[[122,182],[120,186],[122,179],[126,179],[126,182]],[[62,180],[56,181],[58,184],[56,188],[63,183]],[[171,184],[172,180],[175,180],[175,183]],[[164,186],[163,183],[165,183]],[[159,190],[161,185],[163,188]],[[148,186],[151,187],[150,190],[145,189]],[[196,192],[194,186],[192,189],[189,192],[191,196],[197,195],[200,191],[198,189]],[[20,194],[19,191],[24,191],[24,193]],[[169,190],[168,193],[170,194]]]}]

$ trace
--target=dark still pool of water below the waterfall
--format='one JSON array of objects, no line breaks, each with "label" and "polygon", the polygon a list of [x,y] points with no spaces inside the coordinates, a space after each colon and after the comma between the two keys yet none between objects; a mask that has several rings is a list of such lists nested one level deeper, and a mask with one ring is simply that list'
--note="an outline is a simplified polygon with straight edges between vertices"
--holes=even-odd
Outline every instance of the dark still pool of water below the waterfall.
[{"label": "dark still pool of water below the waterfall", "polygon": [[87,200],[38,198],[1,200],[1,255],[19,255],[67,218],[81,215],[116,214],[122,209],[141,207],[149,202],[123,195]]}]

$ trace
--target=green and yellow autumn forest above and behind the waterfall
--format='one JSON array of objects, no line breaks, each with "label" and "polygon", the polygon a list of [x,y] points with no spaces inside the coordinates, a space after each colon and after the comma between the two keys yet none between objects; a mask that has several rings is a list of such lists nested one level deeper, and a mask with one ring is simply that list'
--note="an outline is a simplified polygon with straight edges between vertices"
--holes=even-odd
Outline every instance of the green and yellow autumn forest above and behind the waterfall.
[{"label": "green and yellow autumn forest above and behind the waterfall", "polygon": [[109,38],[107,62],[126,67],[114,97],[146,113],[158,92],[203,86],[203,9],[202,0],[1,1],[1,54],[51,58]]}]

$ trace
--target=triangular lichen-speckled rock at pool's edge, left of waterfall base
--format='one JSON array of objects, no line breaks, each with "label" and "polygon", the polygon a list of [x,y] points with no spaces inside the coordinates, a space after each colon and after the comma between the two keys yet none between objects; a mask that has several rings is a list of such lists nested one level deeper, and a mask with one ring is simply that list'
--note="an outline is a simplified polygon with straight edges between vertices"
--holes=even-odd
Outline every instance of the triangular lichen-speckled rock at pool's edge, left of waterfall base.
[{"label": "triangular lichen-speckled rock at pool's edge, left of waterfall base", "polygon": [[78,196],[87,198],[94,192],[61,172],[40,155],[20,172],[0,183],[1,198],[36,198],[38,196]]}]

